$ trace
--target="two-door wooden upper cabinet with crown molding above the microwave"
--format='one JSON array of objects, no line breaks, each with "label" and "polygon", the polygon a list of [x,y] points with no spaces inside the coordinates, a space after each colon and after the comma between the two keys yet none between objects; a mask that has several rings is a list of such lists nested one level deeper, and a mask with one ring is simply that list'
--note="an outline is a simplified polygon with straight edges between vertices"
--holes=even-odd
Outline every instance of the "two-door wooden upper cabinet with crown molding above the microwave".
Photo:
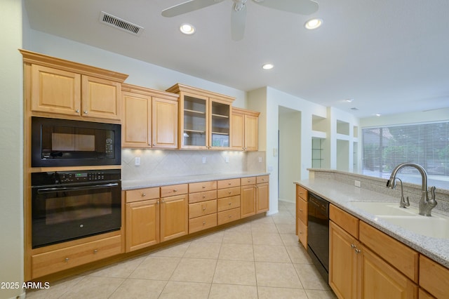
[{"label": "two-door wooden upper cabinet with crown molding above the microwave", "polygon": [[34,115],[121,119],[121,83],[128,75],[20,50],[25,105]]}]

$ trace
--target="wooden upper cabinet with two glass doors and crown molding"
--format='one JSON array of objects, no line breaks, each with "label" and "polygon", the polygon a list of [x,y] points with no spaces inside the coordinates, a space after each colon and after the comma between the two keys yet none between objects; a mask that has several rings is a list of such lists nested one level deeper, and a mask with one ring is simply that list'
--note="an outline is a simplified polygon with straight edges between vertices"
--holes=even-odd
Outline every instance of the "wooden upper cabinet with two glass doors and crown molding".
[{"label": "wooden upper cabinet with two glass doors and crown molding", "polygon": [[180,95],[180,148],[229,150],[234,98],[182,84],[167,91]]}]

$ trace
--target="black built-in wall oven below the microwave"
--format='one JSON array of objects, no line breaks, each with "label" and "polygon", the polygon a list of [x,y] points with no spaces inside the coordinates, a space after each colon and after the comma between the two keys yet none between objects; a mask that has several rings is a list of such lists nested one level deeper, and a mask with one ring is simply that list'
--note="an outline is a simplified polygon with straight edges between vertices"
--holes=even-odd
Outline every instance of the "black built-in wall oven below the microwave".
[{"label": "black built-in wall oven below the microwave", "polygon": [[120,169],[31,175],[32,248],[120,230]]}]

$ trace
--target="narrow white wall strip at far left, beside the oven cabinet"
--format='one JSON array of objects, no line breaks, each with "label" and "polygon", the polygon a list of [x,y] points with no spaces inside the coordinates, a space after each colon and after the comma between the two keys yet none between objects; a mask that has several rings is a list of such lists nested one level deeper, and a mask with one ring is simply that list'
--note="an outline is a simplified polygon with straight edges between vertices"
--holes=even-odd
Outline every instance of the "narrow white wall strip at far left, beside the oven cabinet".
[{"label": "narrow white wall strip at far left, beside the oven cabinet", "polygon": [[22,2],[2,0],[0,8],[0,298],[22,293],[23,281],[23,125]]}]

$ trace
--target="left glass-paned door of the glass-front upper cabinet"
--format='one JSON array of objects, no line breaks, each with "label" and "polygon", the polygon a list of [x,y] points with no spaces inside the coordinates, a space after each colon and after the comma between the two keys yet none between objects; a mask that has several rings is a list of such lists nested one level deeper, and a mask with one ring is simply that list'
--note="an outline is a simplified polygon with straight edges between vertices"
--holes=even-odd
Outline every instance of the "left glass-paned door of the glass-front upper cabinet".
[{"label": "left glass-paned door of the glass-front upper cabinet", "polygon": [[208,148],[209,99],[180,93],[180,147],[196,150]]}]

